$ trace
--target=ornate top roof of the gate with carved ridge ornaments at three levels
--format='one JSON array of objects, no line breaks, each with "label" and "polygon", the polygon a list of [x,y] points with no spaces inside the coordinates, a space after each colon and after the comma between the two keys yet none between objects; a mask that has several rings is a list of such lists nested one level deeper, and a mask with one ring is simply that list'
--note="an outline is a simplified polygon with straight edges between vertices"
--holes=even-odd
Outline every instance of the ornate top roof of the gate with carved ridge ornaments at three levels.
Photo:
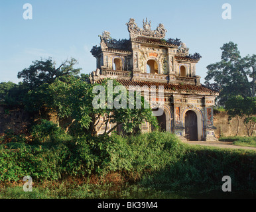
[{"label": "ornate top roof of the gate with carved ridge ornaments at three levels", "polygon": [[133,54],[131,42],[141,42],[144,44],[155,44],[158,46],[166,46],[177,48],[176,56],[177,60],[198,62],[202,56],[200,54],[189,54],[189,48],[186,44],[180,41],[180,39],[168,38],[164,39],[166,30],[164,25],[160,24],[156,30],[151,30],[151,21],[143,20],[143,28],[139,28],[134,19],[130,19],[126,24],[130,32],[130,39],[116,40],[111,38],[110,33],[104,31],[102,35],[99,35],[101,39],[100,46],[94,46],[91,50],[93,56],[97,56],[101,52],[113,52],[120,54]]}]

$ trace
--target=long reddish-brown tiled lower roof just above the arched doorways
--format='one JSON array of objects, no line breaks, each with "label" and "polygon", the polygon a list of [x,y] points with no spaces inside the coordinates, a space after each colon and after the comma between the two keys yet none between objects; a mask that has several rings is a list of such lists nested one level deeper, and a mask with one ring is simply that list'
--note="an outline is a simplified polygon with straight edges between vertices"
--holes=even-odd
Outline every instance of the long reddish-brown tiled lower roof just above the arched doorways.
[{"label": "long reddish-brown tiled lower roof just above the arched doorways", "polygon": [[[99,79],[97,83],[101,83],[102,79]],[[159,86],[164,86],[164,91],[169,91],[171,93],[188,93],[188,94],[196,94],[196,95],[218,95],[217,91],[214,91],[204,85],[182,85],[182,84],[170,84],[170,83],[160,83],[155,81],[131,81],[129,79],[116,79],[119,83],[124,85],[125,87],[129,86],[140,86],[143,87],[147,85],[149,88],[151,86],[156,86],[156,89]]]}]

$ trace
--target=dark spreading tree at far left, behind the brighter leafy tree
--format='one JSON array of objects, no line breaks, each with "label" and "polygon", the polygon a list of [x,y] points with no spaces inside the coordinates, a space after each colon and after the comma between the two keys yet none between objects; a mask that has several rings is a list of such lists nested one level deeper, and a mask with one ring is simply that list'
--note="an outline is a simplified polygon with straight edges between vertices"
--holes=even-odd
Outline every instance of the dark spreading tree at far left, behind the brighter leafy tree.
[{"label": "dark spreading tree at far left, behind the brighter leafy tree", "polygon": [[[40,101],[39,97],[28,95],[28,92],[34,90],[34,94],[45,95],[45,93],[38,91],[42,87],[47,87],[46,84],[54,83],[56,79],[66,83],[78,78],[86,79],[85,75],[82,75],[82,77],[76,75],[80,72],[80,68],[74,68],[77,63],[74,58],[71,58],[56,68],[52,58],[36,60],[32,62],[29,68],[25,68],[22,72],[18,73],[18,78],[23,78],[23,82],[20,82],[18,85],[11,81],[0,83],[0,101],[7,105],[29,105],[31,107],[28,102],[30,100],[34,103],[34,108],[31,111],[36,111],[38,107],[42,106],[42,101]],[[41,85],[42,87],[40,87]],[[37,89],[38,87],[40,89]],[[35,100],[38,102],[36,103]]]}]

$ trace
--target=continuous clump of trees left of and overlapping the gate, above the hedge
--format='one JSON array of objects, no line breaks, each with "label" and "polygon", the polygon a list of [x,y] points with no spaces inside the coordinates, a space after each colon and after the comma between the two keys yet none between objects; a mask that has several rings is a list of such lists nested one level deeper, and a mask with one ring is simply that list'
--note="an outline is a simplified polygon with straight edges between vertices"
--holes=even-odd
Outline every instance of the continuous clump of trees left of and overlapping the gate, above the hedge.
[{"label": "continuous clump of trees left of and overlapping the gate, above the hedge", "polygon": [[[151,109],[145,107],[143,97],[141,107],[129,109],[130,105],[135,105],[136,95],[133,101],[129,101],[129,91],[115,79],[91,84],[88,75],[78,76],[80,68],[75,68],[76,64],[74,58],[66,60],[58,68],[52,58],[32,62],[29,68],[18,73],[23,83],[0,83],[1,103],[21,105],[40,119],[54,113],[58,127],[76,135],[96,135],[101,118],[104,121],[99,128],[105,127],[107,130],[109,123],[114,124],[109,131],[105,130],[105,134],[115,131],[117,127],[123,127],[125,133],[135,133],[140,131],[145,121],[157,127],[157,119],[153,117]],[[108,81],[112,83],[111,91]],[[97,87],[101,87],[103,92],[97,93]],[[123,90],[119,87],[123,87]],[[94,107],[96,97],[103,97],[100,108]],[[114,107],[109,107],[108,99],[113,99]],[[122,107],[115,107],[115,103],[120,105],[120,101],[124,101]],[[62,121],[64,125],[60,125]]]}]

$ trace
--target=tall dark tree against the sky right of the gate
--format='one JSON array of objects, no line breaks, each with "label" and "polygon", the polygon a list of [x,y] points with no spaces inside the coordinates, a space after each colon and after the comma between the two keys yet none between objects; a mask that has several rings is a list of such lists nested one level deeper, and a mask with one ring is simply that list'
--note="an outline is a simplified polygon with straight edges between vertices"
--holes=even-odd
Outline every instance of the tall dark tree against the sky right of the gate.
[{"label": "tall dark tree against the sky right of the gate", "polygon": [[[242,58],[233,42],[220,48],[222,60],[207,66],[206,85],[220,90],[219,104],[224,105],[231,96],[255,96],[255,55]],[[253,78],[253,80],[251,80]],[[250,81],[251,80],[251,81]]]}]

